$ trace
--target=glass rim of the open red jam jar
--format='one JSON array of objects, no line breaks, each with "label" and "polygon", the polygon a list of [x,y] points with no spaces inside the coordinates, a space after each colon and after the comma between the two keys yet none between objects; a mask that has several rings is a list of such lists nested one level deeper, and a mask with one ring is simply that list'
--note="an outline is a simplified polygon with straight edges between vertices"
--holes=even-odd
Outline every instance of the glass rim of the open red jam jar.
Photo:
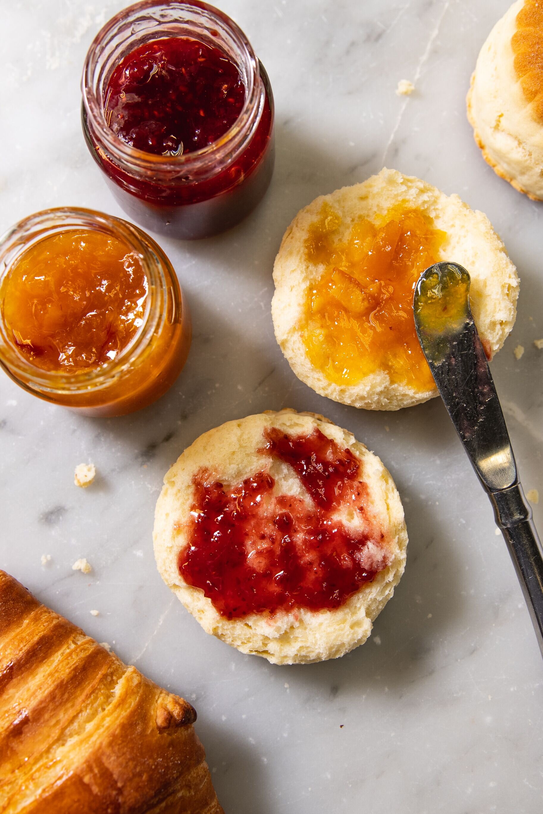
[{"label": "glass rim of the open red jam jar", "polygon": [[[241,72],[245,101],[234,124],[217,141],[200,150],[164,156],[131,147],[113,132],[104,112],[104,91],[116,65],[137,47],[134,43],[152,42],[168,34],[224,50]],[[85,59],[81,91],[94,138],[114,160],[140,173],[174,173],[181,181],[185,176],[190,181],[207,175],[210,163],[224,166],[234,161],[256,132],[265,104],[259,62],[251,43],[234,20],[200,0],[141,0],[122,9],[94,37]]]}]

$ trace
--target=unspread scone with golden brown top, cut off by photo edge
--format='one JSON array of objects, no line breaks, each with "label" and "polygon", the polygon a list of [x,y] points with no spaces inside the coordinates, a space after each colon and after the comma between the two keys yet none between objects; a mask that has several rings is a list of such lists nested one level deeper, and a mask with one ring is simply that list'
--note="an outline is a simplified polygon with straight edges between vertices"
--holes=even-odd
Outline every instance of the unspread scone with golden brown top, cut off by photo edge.
[{"label": "unspread scone with golden brown top, cut off by photo edge", "polygon": [[480,50],[467,117],[484,160],[519,192],[543,199],[543,3],[518,0]]}]

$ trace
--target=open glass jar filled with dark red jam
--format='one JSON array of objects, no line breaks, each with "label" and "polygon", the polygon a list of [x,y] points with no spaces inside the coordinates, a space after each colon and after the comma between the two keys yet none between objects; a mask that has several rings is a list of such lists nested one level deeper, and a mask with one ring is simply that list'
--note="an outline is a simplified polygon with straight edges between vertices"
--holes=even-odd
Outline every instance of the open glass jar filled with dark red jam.
[{"label": "open glass jar filled with dark red jam", "polygon": [[134,221],[174,238],[217,234],[258,204],[274,169],[274,98],[230,17],[198,0],[143,0],[90,46],[82,123]]}]

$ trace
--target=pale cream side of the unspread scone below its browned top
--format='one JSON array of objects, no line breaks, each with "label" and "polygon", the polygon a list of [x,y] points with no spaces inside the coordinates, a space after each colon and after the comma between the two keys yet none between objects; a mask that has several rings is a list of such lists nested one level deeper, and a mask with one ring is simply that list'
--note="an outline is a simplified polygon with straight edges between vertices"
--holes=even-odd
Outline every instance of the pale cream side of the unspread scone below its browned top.
[{"label": "pale cream side of the unspread scone below its browned top", "polygon": [[475,140],[498,175],[543,199],[543,126],[515,73],[511,39],[523,0],[498,20],[480,50],[468,94]]}]

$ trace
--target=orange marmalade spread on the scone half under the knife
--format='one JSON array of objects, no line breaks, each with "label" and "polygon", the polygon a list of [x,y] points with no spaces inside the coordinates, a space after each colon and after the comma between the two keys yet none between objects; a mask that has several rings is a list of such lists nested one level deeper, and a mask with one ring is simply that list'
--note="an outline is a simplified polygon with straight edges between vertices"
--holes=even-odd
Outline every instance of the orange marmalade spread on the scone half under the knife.
[{"label": "orange marmalade spread on the scone half under the knife", "polygon": [[391,383],[435,387],[418,343],[414,287],[437,261],[444,233],[422,212],[392,208],[361,218],[339,239],[341,217],[323,204],[305,241],[307,260],[324,266],[308,287],[303,339],[309,359],[335,384],[355,385],[383,370]]}]

